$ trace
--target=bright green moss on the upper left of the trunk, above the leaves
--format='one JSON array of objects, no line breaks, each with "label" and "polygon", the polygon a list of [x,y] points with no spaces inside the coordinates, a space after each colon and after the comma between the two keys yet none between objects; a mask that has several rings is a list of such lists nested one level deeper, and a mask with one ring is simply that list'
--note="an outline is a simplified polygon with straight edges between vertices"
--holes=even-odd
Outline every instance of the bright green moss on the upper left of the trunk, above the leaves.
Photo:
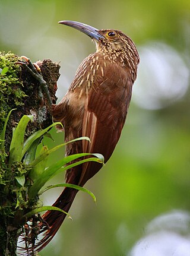
[{"label": "bright green moss on the upper left of the trunk, above the leaves", "polygon": [[23,105],[23,98],[27,96],[22,90],[21,68],[17,61],[18,57],[13,53],[0,52],[0,132],[9,110]]}]

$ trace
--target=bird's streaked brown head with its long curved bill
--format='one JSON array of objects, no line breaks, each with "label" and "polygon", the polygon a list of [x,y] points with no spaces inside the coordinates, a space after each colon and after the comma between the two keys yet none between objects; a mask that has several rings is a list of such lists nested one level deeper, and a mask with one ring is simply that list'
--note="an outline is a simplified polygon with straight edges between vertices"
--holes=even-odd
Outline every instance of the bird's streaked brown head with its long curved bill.
[{"label": "bird's streaked brown head with its long curved bill", "polygon": [[97,52],[111,54],[124,53],[128,55],[129,58],[135,58],[135,61],[138,64],[139,56],[137,48],[135,47],[134,42],[132,42],[126,34],[122,33],[122,31],[112,29],[99,30],[77,21],[59,21],[59,23],[73,27],[90,36],[96,43]]}]

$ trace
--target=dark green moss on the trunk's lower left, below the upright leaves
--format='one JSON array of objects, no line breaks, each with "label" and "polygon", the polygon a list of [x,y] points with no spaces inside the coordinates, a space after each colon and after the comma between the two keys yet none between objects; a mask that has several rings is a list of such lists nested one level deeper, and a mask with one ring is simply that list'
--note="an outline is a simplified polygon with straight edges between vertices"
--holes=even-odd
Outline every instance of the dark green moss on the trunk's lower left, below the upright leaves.
[{"label": "dark green moss on the trunk's lower left, below the upright leaves", "polygon": [[28,172],[29,168],[21,162],[9,166],[5,160],[0,166],[0,255],[17,255],[17,239],[26,222],[24,212],[37,207],[37,196],[30,202],[27,200],[27,182],[24,186],[18,182]]}]

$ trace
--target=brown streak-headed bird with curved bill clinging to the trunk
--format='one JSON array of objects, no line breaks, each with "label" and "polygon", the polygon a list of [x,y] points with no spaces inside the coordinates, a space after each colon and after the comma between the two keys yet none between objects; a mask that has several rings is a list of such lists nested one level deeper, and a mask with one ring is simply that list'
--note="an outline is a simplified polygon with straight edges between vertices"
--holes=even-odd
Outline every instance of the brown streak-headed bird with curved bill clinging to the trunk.
[{"label": "brown streak-headed bird with curved bill clinging to the trunk", "polygon": [[[106,163],[118,143],[128,113],[140,62],[137,48],[120,30],[99,30],[77,21],[59,23],[91,37],[96,52],[84,59],[63,99],[52,105],[53,121],[62,123],[65,143],[78,137],[90,138],[90,142],[66,144],[66,156],[100,153]],[[83,187],[101,168],[96,162],[72,167],[66,171],[66,183]],[[65,187],[53,206],[68,212],[77,192],[77,189]],[[37,242],[36,251],[41,251],[52,240],[65,217],[60,211],[46,211],[40,230],[43,238]]]}]

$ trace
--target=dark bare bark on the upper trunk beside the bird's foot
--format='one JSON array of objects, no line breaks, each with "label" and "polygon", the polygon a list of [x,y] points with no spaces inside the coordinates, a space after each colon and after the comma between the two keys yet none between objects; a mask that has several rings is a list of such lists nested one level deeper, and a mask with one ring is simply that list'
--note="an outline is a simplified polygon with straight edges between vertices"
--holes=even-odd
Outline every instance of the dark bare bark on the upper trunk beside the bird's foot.
[{"label": "dark bare bark on the upper trunk beside the bird's foot", "polygon": [[[44,80],[47,83],[47,87],[52,97],[52,101],[56,103],[56,90],[57,90],[57,81],[59,78],[59,64],[50,61],[50,59],[45,59],[44,61],[37,62],[39,65]],[[23,83],[22,91],[27,95],[24,97],[23,105],[17,106],[17,102],[12,100],[11,95],[8,98],[7,109],[17,109],[12,112],[10,122],[8,123],[8,129],[6,134],[6,148],[9,147],[11,137],[12,137],[12,128],[18,124],[23,115],[33,115],[33,122],[27,127],[26,137],[29,137],[38,129],[43,129],[52,124],[52,115],[47,104],[46,96],[44,94],[43,99],[39,97],[39,82],[27,71],[25,67],[21,66],[20,74],[18,74],[19,80]],[[14,89],[17,89],[17,86],[14,85]]]}]

